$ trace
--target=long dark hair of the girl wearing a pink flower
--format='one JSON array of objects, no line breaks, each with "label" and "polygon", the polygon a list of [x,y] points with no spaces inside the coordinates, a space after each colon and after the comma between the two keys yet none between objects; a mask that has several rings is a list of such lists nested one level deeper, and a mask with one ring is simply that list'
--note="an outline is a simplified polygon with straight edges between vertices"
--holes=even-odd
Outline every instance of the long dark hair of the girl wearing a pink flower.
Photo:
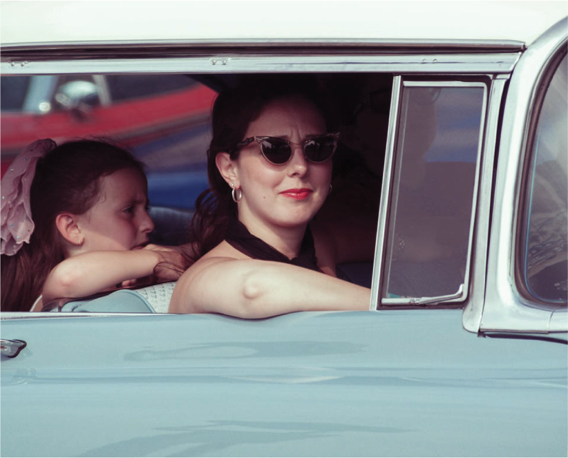
[{"label": "long dark hair of the girl wearing a pink flower", "polygon": [[0,311],[30,309],[51,269],[66,258],[55,218],[91,209],[100,195],[100,178],[122,169],[144,175],[142,162],[131,153],[99,140],[61,144],[37,161],[30,189],[35,229],[14,256],[0,255]]}]

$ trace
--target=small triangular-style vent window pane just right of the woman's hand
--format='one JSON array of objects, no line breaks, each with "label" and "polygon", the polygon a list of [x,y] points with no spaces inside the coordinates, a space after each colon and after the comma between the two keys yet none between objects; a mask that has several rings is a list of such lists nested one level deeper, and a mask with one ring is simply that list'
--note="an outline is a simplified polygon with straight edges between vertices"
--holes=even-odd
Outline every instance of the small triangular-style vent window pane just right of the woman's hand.
[{"label": "small triangular-style vent window pane just right of the woman's hand", "polygon": [[464,300],[485,103],[481,82],[402,85],[383,303]]}]

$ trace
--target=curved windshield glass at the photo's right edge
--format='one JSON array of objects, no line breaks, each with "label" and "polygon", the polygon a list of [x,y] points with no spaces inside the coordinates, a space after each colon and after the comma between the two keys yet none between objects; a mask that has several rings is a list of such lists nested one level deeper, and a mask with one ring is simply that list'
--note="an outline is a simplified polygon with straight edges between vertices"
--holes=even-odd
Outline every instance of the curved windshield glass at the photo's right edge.
[{"label": "curved windshield glass at the photo's right edge", "polygon": [[528,293],[568,300],[568,57],[547,89],[531,151],[520,250]]}]

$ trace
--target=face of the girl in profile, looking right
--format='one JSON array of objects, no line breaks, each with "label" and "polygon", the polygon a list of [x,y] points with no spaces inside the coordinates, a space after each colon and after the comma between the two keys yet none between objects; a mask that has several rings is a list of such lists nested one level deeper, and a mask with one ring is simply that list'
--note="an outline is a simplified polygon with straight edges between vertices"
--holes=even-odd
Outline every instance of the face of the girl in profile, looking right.
[{"label": "face of the girl in profile, looking right", "polygon": [[77,217],[84,236],[80,252],[144,247],[154,228],[147,205],[146,178],[140,171],[122,169],[101,178],[99,199]]}]

